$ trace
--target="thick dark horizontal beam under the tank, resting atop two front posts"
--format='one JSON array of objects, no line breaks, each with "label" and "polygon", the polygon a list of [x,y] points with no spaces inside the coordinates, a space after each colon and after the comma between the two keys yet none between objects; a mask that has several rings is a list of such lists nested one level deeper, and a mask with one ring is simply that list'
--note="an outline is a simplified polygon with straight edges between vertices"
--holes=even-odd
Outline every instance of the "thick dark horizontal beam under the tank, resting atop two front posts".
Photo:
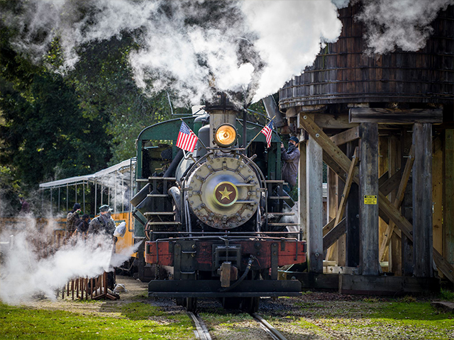
[{"label": "thick dark horizontal beam under the tank, resting atop two front posts", "polygon": [[350,108],[350,123],[443,123],[442,109],[392,110],[389,108]]}]

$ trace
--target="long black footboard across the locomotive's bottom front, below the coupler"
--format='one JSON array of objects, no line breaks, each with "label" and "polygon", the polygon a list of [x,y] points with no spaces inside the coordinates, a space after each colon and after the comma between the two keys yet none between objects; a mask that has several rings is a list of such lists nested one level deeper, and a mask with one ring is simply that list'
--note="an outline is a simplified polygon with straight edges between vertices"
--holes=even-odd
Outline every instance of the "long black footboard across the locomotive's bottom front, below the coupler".
[{"label": "long black footboard across the locomotive's bottom front, below the coupler", "polygon": [[151,280],[148,297],[272,297],[299,296],[299,280],[244,280],[223,291],[218,280]]}]

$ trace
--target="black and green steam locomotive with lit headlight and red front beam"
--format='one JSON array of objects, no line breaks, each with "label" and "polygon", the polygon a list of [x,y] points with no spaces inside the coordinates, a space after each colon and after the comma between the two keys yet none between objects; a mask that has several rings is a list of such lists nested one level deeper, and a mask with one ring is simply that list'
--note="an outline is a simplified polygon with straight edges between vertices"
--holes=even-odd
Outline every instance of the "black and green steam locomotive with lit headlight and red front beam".
[{"label": "black and green steam locomotive with lit headlight and red front beam", "polygon": [[262,126],[241,120],[225,95],[183,120],[199,137],[192,153],[175,145],[180,119],[137,140],[131,203],[135,238],[145,239],[145,262],[155,268],[149,297],[176,298],[189,311],[197,298],[216,297],[255,312],[260,297],[299,295],[299,281],[278,280],[280,266],[306,261],[306,242],[289,231],[297,223],[287,220],[293,201],[283,190],[279,136],[272,132],[268,149]]}]

